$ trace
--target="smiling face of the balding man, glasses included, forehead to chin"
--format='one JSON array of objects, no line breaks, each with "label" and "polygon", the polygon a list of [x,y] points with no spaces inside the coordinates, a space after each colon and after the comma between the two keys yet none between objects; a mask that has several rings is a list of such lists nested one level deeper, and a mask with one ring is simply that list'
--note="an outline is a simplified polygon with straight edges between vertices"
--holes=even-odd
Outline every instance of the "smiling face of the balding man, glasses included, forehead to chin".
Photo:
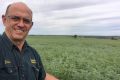
[{"label": "smiling face of the balding man, glasses included, forehead to chin", "polygon": [[22,5],[11,6],[2,19],[7,36],[14,41],[24,40],[33,24],[31,11]]}]

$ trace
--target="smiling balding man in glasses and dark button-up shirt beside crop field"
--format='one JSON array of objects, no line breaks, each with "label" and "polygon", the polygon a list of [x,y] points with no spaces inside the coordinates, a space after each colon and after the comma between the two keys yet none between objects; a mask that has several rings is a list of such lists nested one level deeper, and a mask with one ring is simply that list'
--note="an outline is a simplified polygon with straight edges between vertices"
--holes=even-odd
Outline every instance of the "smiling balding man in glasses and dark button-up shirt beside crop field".
[{"label": "smiling balding man in glasses and dark button-up shirt beside crop field", "polygon": [[40,56],[25,40],[32,16],[22,2],[10,4],[2,15],[5,32],[0,37],[0,80],[57,80],[46,74]]}]

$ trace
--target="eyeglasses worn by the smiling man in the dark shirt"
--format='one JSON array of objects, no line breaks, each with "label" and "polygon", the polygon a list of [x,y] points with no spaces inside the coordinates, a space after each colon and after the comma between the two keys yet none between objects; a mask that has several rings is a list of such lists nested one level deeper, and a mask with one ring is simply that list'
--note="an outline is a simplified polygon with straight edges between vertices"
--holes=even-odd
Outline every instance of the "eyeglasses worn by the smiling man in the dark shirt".
[{"label": "eyeglasses worn by the smiling man in the dark shirt", "polygon": [[24,24],[27,24],[27,25],[33,24],[32,20],[30,20],[28,18],[21,18],[19,16],[7,16],[7,17],[10,18],[14,22],[20,22],[20,20],[23,19]]}]

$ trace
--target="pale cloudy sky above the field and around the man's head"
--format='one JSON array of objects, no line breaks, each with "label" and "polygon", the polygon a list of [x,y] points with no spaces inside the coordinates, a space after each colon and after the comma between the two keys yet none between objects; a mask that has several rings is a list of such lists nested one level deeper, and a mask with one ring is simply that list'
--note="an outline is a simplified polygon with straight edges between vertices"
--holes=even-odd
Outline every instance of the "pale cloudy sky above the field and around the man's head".
[{"label": "pale cloudy sky above the field and around the man's head", "polygon": [[18,1],[33,11],[29,34],[120,36],[120,0],[0,0],[0,16]]}]

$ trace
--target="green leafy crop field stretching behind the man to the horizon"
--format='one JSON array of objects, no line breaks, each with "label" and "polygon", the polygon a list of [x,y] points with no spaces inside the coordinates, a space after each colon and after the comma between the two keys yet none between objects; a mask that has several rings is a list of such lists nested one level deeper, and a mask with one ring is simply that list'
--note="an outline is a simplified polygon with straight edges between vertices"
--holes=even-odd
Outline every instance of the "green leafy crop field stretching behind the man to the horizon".
[{"label": "green leafy crop field stretching behind the man to the horizon", "polygon": [[60,80],[120,80],[120,40],[29,36],[46,72]]}]

